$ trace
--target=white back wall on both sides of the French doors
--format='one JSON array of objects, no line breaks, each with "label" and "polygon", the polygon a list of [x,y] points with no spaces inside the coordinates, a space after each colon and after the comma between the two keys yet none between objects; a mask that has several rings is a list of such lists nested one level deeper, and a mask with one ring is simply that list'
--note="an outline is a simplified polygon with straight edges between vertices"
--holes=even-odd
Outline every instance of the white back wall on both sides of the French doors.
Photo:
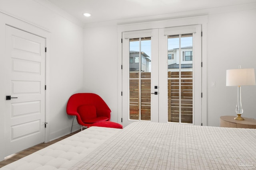
[{"label": "white back wall on both sides of the French doors", "polygon": [[[208,14],[207,113],[203,114],[207,114],[208,125],[219,126],[221,115],[236,115],[236,87],[226,87],[226,70],[238,68],[238,65],[256,69],[253,50],[256,47],[256,4],[194,11],[193,15],[196,14]],[[103,96],[114,111],[112,117],[116,117],[115,108],[121,103],[116,101],[116,96],[120,93],[116,83],[120,80],[120,75],[116,74],[120,66],[116,65],[116,61],[121,57],[117,53],[120,43],[116,38],[117,27],[118,21],[110,25],[86,25],[84,29],[85,90]],[[212,81],[216,82],[216,87],[211,86]],[[255,101],[256,86],[242,87],[244,117],[256,118]],[[119,119],[120,117],[118,121]]]}]

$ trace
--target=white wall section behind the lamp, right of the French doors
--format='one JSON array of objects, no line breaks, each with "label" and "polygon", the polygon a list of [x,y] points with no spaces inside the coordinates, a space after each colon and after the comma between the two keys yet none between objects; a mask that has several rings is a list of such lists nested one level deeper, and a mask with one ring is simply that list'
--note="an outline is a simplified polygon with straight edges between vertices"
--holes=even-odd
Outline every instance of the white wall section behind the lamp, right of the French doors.
[{"label": "white wall section behind the lamp, right of the French doors", "polygon": [[[255,6],[254,6],[255,7]],[[218,126],[221,115],[236,115],[237,87],[226,86],[226,70],[256,70],[256,9],[208,17],[208,125]],[[211,82],[216,82],[216,87]],[[256,86],[242,86],[244,117],[256,119]]]}]

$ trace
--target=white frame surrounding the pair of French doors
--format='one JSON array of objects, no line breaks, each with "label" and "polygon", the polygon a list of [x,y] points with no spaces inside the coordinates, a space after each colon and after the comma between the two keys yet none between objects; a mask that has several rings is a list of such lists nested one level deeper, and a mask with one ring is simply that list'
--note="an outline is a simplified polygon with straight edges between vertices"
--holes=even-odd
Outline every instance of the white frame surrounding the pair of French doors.
[{"label": "white frame surrounding the pair of French doors", "polygon": [[148,21],[118,25],[118,123],[122,124],[122,33],[154,28],[202,25],[202,125],[207,125],[207,16],[176,18],[170,20]]}]

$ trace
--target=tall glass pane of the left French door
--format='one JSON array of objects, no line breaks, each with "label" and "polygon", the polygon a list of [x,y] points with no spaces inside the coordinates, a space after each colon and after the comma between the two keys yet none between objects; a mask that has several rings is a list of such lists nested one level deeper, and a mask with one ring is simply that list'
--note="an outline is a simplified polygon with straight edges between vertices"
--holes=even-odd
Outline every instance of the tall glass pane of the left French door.
[{"label": "tall glass pane of the left French door", "polygon": [[150,56],[151,37],[130,39],[130,119],[151,120]]}]

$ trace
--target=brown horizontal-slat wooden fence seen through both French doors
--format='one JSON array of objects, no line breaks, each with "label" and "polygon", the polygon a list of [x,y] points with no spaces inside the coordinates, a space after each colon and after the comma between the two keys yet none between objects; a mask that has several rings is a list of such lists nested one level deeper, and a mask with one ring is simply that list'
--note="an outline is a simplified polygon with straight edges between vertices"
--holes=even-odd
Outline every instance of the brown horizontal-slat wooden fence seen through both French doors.
[{"label": "brown horizontal-slat wooden fence seen through both French doors", "polygon": [[[138,72],[130,73],[130,119],[139,119],[139,78]],[[141,78],[141,120],[150,120],[151,112],[151,73],[142,72]],[[168,72],[168,121],[192,123],[193,117],[193,83],[192,72]],[[181,86],[180,86],[181,85]],[[181,92],[181,94],[180,94]],[[181,97],[181,100],[180,100]],[[181,101],[181,103],[180,103]]]}]

